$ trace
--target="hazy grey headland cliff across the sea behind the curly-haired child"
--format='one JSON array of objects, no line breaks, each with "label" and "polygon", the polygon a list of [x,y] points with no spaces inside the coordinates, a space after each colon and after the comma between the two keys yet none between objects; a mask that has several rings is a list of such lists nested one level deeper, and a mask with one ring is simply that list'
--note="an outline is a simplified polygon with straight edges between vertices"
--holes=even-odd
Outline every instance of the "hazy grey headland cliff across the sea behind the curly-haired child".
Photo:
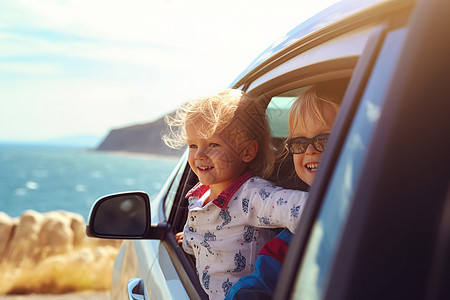
[{"label": "hazy grey headland cliff across the sea behind the curly-haired child", "polygon": [[96,150],[181,156],[183,150],[171,149],[162,141],[161,135],[165,130],[167,125],[164,118],[150,123],[113,129]]}]

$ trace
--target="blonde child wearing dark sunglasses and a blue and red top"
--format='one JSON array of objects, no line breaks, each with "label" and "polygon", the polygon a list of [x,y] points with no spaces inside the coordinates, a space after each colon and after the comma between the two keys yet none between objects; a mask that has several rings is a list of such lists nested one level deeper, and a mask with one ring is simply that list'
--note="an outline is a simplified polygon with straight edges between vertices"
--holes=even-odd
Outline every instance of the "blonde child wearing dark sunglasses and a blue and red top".
[{"label": "blonde child wearing dark sunglasses and a blue and red top", "polygon": [[[297,176],[309,186],[319,168],[346,83],[337,80],[316,85],[301,94],[289,111],[284,157],[292,154]],[[234,284],[225,299],[270,299],[291,237],[289,229],[284,229],[265,244],[256,260],[255,271]]]}]

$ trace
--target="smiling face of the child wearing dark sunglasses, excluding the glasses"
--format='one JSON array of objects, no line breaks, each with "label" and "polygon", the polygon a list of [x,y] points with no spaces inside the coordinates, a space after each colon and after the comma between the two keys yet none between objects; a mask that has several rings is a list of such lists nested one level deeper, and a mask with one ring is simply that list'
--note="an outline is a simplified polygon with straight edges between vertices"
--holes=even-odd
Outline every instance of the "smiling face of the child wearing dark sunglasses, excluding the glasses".
[{"label": "smiling face of the child wearing dark sunglasses, excluding the glasses", "polygon": [[[323,118],[325,123],[317,118],[312,118],[311,115],[308,114],[305,116],[306,128],[297,126],[292,130],[291,136],[293,138],[313,138],[321,134],[328,134],[331,132],[336,115],[336,111],[331,106],[324,105]],[[309,186],[311,186],[314,181],[321,157],[322,152],[317,151],[311,144],[308,145],[305,153],[293,155],[295,172],[298,177]]]}]

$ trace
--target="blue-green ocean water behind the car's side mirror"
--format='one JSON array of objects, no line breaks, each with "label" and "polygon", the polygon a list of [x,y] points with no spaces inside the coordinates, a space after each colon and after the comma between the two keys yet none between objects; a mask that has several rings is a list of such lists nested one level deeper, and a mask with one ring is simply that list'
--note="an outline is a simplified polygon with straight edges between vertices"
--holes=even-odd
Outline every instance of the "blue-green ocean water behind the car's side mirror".
[{"label": "blue-green ocean water behind the car's side mirror", "polygon": [[0,211],[66,210],[87,220],[103,195],[145,191],[154,197],[176,158],[118,155],[74,147],[0,144]]}]

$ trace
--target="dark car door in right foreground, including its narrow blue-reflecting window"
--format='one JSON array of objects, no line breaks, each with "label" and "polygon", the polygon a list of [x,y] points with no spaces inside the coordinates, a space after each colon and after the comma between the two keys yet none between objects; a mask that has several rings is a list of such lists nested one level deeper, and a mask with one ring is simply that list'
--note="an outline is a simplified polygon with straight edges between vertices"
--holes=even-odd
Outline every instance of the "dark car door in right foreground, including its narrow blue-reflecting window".
[{"label": "dark car door in right foreground, including its narrow blue-reflecting window", "polygon": [[448,299],[449,9],[418,1],[373,66],[361,56],[367,82],[354,74],[344,101],[361,100],[337,121],[276,299]]}]

